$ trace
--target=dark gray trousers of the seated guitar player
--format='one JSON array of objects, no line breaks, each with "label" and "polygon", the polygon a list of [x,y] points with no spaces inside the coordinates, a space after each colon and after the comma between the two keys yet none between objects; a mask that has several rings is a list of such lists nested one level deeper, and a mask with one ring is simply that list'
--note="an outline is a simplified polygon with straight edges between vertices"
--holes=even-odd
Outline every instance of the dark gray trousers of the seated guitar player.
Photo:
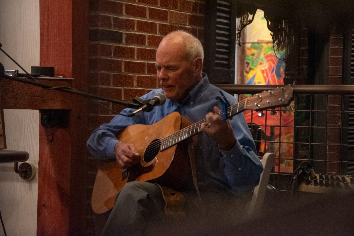
[{"label": "dark gray trousers of the seated guitar player", "polygon": [[115,205],[103,228],[102,236],[118,235],[192,235],[234,225],[240,217],[238,202],[220,192],[202,191],[201,206],[195,191],[185,196],[185,219],[167,219],[165,201],[158,185],[129,182],[116,197]]}]

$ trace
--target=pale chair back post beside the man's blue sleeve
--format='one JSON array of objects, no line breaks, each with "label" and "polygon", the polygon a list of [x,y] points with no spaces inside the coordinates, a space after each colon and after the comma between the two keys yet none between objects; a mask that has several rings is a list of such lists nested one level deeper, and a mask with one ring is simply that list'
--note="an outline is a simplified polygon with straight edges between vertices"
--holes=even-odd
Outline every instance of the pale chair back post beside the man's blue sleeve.
[{"label": "pale chair back post beside the man's blue sleeve", "polygon": [[247,219],[256,217],[261,213],[265,192],[267,190],[267,185],[270,177],[270,172],[272,172],[273,168],[274,157],[274,154],[270,152],[267,152],[263,156],[262,165],[264,170],[261,174],[261,178],[259,179],[259,184],[255,187],[255,190],[253,191],[252,200],[249,202]]}]

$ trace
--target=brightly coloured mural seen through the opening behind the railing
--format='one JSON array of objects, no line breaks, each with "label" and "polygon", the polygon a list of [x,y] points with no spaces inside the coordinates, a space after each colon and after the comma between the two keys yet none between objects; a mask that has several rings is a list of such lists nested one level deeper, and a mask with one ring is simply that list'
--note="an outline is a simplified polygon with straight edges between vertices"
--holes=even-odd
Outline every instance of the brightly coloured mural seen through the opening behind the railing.
[{"label": "brightly coloured mural seen through the opening behind the railing", "polygon": [[[246,42],[244,84],[284,84],[285,62],[282,59],[284,59],[285,52],[273,49],[272,38],[263,17],[263,11],[258,10],[252,24],[247,26]],[[293,103],[290,106],[287,110],[293,109]],[[245,111],[246,121],[257,124],[263,129],[268,140],[275,141],[275,143],[267,143],[266,145],[262,143],[260,147],[260,152],[271,151],[275,153],[276,157],[280,157],[276,159],[275,171],[292,173],[293,128],[281,127],[280,131],[279,126],[293,126],[294,115],[290,111],[283,112],[280,108],[276,110],[275,115],[271,115],[267,111],[264,112],[263,117],[259,117],[257,112]],[[265,130],[265,125],[267,125],[267,130]],[[280,133],[281,137],[279,137]],[[281,140],[279,140],[280,138]]]}]

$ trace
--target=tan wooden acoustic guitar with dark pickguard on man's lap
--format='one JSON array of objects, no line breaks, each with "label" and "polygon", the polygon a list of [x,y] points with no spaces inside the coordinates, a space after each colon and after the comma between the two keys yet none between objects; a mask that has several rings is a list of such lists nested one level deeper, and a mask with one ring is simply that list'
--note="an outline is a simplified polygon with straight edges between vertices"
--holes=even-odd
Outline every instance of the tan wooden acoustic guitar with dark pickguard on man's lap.
[{"label": "tan wooden acoustic guitar with dark pickguard on man's lap", "polygon": [[[264,91],[225,108],[218,115],[228,119],[246,109],[262,110],[287,105],[292,97],[290,85]],[[113,208],[115,197],[123,186],[131,181],[149,181],[172,189],[178,189],[188,177],[190,161],[187,145],[195,134],[201,132],[201,124],[190,122],[178,112],[167,115],[153,125],[132,125],[117,137],[132,143],[142,157],[129,169],[121,169],[116,160],[101,161],[93,186],[91,205],[95,213]],[[178,144],[178,145],[177,145]]]}]

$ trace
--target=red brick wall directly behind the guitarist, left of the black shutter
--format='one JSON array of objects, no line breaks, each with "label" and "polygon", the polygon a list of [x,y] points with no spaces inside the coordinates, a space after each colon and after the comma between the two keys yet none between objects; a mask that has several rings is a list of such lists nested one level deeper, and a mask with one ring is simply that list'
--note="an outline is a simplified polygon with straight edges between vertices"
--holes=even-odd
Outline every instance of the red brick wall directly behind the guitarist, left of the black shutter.
[{"label": "red brick wall directly behind the guitarist, left of the black shutter", "polygon": [[[161,39],[177,29],[204,41],[204,0],[90,0],[90,92],[132,100],[158,87],[155,53]],[[121,105],[102,102],[121,111]],[[90,104],[89,133],[115,115]],[[88,197],[91,199],[97,160],[89,157]],[[87,235],[92,235],[90,203]]]}]

